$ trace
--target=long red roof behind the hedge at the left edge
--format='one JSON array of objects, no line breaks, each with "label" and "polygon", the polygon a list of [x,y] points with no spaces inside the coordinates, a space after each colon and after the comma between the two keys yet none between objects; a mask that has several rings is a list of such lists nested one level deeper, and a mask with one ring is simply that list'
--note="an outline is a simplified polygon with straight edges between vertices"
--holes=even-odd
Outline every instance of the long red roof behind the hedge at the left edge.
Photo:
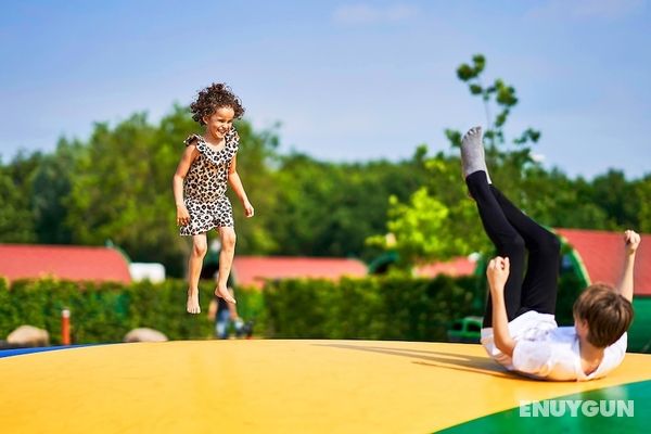
[{"label": "long red roof behind the hedge at the left edge", "polygon": [[0,276],[131,282],[129,265],[115,248],[72,245],[0,244]]}]

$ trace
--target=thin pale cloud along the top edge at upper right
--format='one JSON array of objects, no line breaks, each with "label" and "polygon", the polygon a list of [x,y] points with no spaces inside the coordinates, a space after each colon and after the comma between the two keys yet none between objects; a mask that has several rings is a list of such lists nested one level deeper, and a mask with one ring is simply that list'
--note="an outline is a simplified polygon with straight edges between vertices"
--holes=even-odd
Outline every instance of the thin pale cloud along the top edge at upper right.
[{"label": "thin pale cloud along the top edge at upper right", "polygon": [[535,18],[621,18],[641,12],[647,0],[549,0],[529,11]]}]

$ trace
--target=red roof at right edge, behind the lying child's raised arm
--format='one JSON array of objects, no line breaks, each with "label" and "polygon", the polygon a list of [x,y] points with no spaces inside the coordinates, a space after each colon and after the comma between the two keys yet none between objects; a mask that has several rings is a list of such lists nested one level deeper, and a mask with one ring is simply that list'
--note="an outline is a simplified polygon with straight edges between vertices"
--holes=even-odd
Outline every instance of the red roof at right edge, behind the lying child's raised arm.
[{"label": "red roof at right edge, behind the lying child's raised arm", "polygon": [[[591,283],[615,285],[624,263],[623,232],[583,229],[557,229],[578,253]],[[635,261],[634,288],[636,295],[651,295],[651,234],[642,234]]]}]

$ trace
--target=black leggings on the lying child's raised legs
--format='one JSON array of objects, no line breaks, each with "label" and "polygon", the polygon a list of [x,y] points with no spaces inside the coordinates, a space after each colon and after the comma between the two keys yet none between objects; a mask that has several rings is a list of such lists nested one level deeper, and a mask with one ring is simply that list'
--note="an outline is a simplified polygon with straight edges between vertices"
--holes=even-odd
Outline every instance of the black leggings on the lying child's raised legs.
[{"label": "black leggings on the lying child's raised legs", "polygon": [[[509,321],[527,310],[556,312],[560,243],[554,234],[524,215],[498,189],[488,184],[484,171],[465,178],[477,204],[486,234],[499,256],[508,257],[511,271],[505,288]],[[525,250],[528,251],[526,275]],[[493,327],[490,293],[486,302],[484,327]]]}]

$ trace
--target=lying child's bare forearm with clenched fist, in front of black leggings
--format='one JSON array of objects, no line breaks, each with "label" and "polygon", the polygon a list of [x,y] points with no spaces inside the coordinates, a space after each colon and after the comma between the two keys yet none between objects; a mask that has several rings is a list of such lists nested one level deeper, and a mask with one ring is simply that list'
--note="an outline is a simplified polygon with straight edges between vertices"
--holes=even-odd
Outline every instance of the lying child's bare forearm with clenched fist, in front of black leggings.
[{"label": "lying child's bare forearm with clenched fist, in front of black leggings", "polygon": [[490,299],[493,303],[493,336],[495,346],[509,357],[513,356],[515,341],[509,333],[509,320],[507,307],[505,306],[505,285],[509,278],[509,258],[496,257],[490,259],[486,276],[490,286]]}]

